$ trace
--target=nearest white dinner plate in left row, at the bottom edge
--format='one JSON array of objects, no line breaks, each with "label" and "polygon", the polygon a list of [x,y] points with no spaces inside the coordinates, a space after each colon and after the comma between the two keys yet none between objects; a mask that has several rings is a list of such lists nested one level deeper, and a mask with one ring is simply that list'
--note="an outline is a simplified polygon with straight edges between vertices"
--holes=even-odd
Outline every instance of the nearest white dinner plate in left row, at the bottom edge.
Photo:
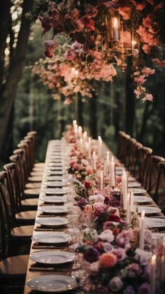
[{"label": "nearest white dinner plate in left row, at the bottom edge", "polygon": [[27,281],[27,286],[41,292],[64,292],[78,287],[76,278],[50,274],[48,276],[36,276]]}]

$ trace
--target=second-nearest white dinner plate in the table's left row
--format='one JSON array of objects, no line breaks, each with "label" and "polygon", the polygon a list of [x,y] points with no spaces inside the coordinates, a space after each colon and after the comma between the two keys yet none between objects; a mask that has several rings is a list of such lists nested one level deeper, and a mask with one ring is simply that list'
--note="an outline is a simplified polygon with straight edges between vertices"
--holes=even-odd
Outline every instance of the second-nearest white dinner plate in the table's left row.
[{"label": "second-nearest white dinner plate in the table's left row", "polygon": [[30,255],[29,258],[45,265],[61,265],[73,261],[75,255],[66,251],[42,251]]}]

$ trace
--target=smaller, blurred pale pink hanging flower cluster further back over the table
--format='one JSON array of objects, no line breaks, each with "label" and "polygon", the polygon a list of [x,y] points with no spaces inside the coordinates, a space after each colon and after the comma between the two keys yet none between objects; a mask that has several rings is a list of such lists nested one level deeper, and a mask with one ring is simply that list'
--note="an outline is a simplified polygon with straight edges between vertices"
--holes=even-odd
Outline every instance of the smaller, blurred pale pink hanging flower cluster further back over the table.
[{"label": "smaller, blurred pale pink hanging flower cluster further back over the table", "polygon": [[[78,42],[58,45],[56,41],[48,40],[44,41],[43,45],[46,58],[30,67],[52,91],[53,99],[61,99],[63,94],[64,104],[73,102],[76,93],[85,98],[92,98],[92,92],[96,90],[93,86],[94,80],[110,81],[117,75],[113,64],[104,64],[101,57],[98,57],[97,63],[94,59],[89,67],[84,66],[80,58],[82,45]],[[97,54],[99,55],[99,52]],[[100,71],[96,70],[98,66]]]}]

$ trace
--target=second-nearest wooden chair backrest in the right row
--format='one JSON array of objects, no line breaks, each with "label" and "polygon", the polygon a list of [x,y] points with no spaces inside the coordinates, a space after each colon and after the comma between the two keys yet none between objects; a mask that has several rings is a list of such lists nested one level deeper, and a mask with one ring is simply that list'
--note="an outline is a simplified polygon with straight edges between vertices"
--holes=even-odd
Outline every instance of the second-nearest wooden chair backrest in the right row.
[{"label": "second-nearest wooden chair backrest in the right row", "polygon": [[158,165],[160,162],[164,162],[164,158],[157,155],[150,157],[148,181],[146,182],[146,189],[151,197],[154,197],[158,179]]}]

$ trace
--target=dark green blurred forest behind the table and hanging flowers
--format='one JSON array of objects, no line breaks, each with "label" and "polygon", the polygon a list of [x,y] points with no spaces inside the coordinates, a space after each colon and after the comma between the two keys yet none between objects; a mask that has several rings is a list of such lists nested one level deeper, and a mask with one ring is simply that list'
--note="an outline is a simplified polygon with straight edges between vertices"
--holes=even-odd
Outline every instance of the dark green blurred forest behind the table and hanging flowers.
[{"label": "dark green blurred forest behind the table and hanging flowers", "polygon": [[146,83],[154,102],[136,99],[131,60],[124,73],[117,71],[113,83],[98,82],[92,99],[79,96],[78,103],[69,106],[53,100],[50,90],[29,69],[43,58],[41,25],[36,22],[30,26],[25,18],[34,2],[0,3],[1,167],[29,130],[38,132],[38,160],[43,161],[48,140],[60,139],[66,124],[76,118],[76,112],[84,130],[93,138],[100,135],[114,152],[117,133],[124,130],[155,154],[165,156],[165,69],[155,66],[155,75]]}]

